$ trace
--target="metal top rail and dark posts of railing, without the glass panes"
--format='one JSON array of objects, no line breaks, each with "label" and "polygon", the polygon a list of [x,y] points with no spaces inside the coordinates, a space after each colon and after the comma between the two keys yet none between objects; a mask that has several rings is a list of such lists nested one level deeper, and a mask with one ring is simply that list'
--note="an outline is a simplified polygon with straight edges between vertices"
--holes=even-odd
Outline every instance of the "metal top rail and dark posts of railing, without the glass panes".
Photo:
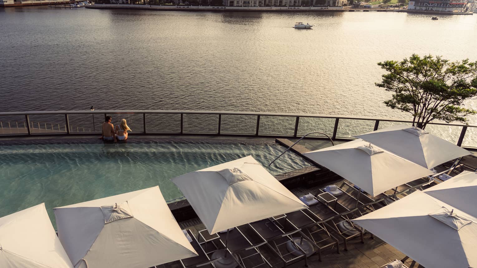
[{"label": "metal top rail and dark posts of railing, without the glass panes", "polygon": [[[339,126],[340,119],[350,119],[350,120],[368,120],[374,121],[374,128],[373,130],[377,130],[379,127],[379,123],[383,122],[399,122],[399,123],[412,123],[412,120],[403,120],[403,119],[391,119],[391,118],[376,118],[376,117],[361,117],[361,116],[341,116],[341,115],[322,115],[322,114],[299,114],[299,113],[269,113],[269,112],[232,112],[232,111],[189,111],[189,110],[78,110],[78,111],[18,111],[18,112],[0,112],[0,116],[24,116],[25,122],[27,123],[27,133],[2,133],[0,132],[0,137],[3,136],[35,136],[35,135],[44,135],[44,134],[84,134],[82,132],[73,132],[70,129],[68,115],[74,114],[104,114],[104,117],[108,114],[142,114],[143,115],[143,131],[141,132],[132,132],[132,133],[143,133],[143,134],[205,134],[205,135],[243,135],[243,136],[262,136],[262,137],[270,137],[270,136],[280,136],[280,137],[302,137],[302,135],[298,135],[298,128],[300,118],[321,118],[321,119],[335,119],[334,128],[332,133],[332,139],[353,139],[352,137],[337,137],[337,131]],[[149,114],[180,114],[180,131],[177,132],[157,132],[157,131],[147,131],[146,129],[146,115]],[[202,115],[218,115],[218,128],[216,132],[184,132],[183,131],[183,122],[184,122],[184,115],[189,114],[202,114]],[[30,115],[64,115],[64,123],[65,123],[65,132],[51,132],[51,133],[31,133],[30,128]],[[221,119],[222,115],[231,115],[231,116],[255,116],[257,119],[257,124],[255,128],[255,134],[253,133],[221,133]],[[295,126],[293,134],[260,134],[259,127],[260,127],[260,117],[261,116],[269,116],[269,117],[294,117],[295,118]],[[94,118],[94,117],[93,117]],[[461,127],[459,139],[457,140],[457,145],[462,146],[462,141],[467,132],[467,128],[477,128],[477,125],[465,125],[465,124],[447,124],[441,122],[431,122],[428,123],[429,125],[440,125],[440,126],[448,126],[448,127]],[[97,131],[88,132],[90,134],[97,134]],[[312,138],[323,138],[323,137],[312,137]]]}]

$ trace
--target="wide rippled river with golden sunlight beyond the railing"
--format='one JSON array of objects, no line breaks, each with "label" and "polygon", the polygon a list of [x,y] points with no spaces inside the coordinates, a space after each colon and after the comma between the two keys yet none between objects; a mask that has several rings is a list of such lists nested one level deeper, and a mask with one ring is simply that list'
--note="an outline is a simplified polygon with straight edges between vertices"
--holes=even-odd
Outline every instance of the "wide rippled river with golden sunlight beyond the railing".
[{"label": "wide rippled river with golden sunlight beyond the railing", "polygon": [[[295,21],[316,26],[297,30]],[[382,104],[389,94],[374,86],[376,63],[412,53],[477,60],[476,22],[477,14],[0,9],[1,110],[407,118]]]}]

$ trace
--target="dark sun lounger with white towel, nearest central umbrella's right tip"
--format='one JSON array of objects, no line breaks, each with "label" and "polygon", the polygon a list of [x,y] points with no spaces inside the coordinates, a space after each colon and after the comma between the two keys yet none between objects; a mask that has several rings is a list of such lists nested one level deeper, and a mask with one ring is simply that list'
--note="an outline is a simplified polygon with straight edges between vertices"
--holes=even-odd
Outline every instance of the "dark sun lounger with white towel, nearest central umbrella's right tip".
[{"label": "dark sun lounger with white towel, nearest central umbrella's right tip", "polygon": [[[345,210],[340,203],[336,202],[334,206],[340,208],[340,210]],[[329,227],[330,230],[337,234],[337,237],[341,238],[344,244],[344,250],[348,250],[348,240],[361,237],[361,242],[364,242],[363,232],[353,225],[346,214],[339,214],[332,207],[325,205],[321,201],[302,211],[316,222],[325,224],[326,227]]]}]

